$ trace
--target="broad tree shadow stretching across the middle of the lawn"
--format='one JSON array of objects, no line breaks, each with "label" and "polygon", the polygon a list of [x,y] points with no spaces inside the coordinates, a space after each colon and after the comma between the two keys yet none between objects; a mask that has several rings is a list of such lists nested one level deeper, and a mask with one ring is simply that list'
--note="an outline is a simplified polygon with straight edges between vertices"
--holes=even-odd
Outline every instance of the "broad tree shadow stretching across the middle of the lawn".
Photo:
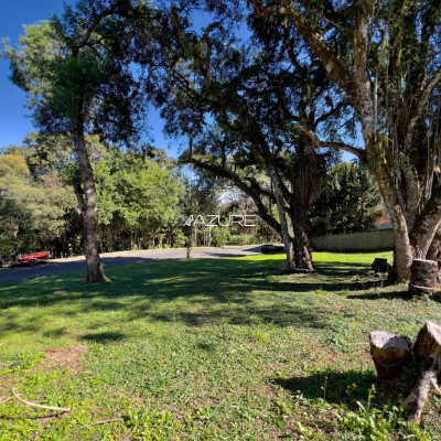
[{"label": "broad tree shadow stretching across the middle of the lawn", "polygon": [[[319,262],[315,275],[265,275],[268,269],[280,267],[282,259],[191,259],[118,267],[108,271],[112,283],[92,286],[84,284],[80,273],[6,283],[0,284],[0,309],[57,305],[54,313],[64,316],[90,311],[127,311],[130,321],[146,319],[190,326],[222,321],[324,329],[330,326],[331,312],[312,306],[309,297],[303,294],[320,290],[320,295],[321,291],[325,295],[326,292],[367,290],[375,286],[370,279],[357,276],[368,269],[362,263]],[[163,308],[162,311],[157,308],[172,301],[195,304],[196,311],[184,308],[164,312]],[[29,318],[24,325],[17,320],[15,312],[11,314],[9,323],[3,325],[8,326],[4,331],[40,326],[37,318]],[[122,337],[112,333],[84,336],[98,342]]]}]

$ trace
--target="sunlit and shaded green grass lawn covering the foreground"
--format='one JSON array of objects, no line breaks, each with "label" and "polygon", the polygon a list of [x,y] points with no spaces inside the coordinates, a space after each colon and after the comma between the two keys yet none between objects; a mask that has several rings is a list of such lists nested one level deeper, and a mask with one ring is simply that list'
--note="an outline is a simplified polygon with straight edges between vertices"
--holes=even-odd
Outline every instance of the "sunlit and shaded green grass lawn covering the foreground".
[{"label": "sunlit and shaded green grass lawn covering the foreground", "polygon": [[[315,275],[267,272],[276,255],[1,283],[0,440],[440,440],[441,399],[416,428],[396,408],[411,373],[375,377],[369,331],[441,323],[437,300],[366,273],[381,256],[316,252]],[[2,402],[12,388],[72,411]]]}]

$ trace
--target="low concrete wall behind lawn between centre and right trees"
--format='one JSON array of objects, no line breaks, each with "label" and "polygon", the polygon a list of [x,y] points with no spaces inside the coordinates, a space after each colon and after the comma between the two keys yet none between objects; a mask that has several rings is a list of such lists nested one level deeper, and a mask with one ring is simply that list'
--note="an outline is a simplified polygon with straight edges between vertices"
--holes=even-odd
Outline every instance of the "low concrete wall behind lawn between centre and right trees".
[{"label": "low concrete wall behind lawn between centre and right trees", "polygon": [[311,238],[315,251],[380,251],[394,249],[394,232],[379,229],[373,232],[346,233]]}]

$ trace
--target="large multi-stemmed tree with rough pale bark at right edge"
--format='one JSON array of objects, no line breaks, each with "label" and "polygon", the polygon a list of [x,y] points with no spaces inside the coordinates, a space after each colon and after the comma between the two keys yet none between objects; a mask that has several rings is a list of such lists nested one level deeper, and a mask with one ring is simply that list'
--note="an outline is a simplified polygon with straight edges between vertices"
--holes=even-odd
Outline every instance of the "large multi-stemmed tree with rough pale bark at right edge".
[{"label": "large multi-stemmed tree with rough pale bark at right edge", "polygon": [[441,223],[441,3],[251,3],[258,15],[283,17],[295,26],[356,111],[364,149],[340,148],[377,180],[394,226],[395,278],[409,278],[412,259],[426,257]]}]

